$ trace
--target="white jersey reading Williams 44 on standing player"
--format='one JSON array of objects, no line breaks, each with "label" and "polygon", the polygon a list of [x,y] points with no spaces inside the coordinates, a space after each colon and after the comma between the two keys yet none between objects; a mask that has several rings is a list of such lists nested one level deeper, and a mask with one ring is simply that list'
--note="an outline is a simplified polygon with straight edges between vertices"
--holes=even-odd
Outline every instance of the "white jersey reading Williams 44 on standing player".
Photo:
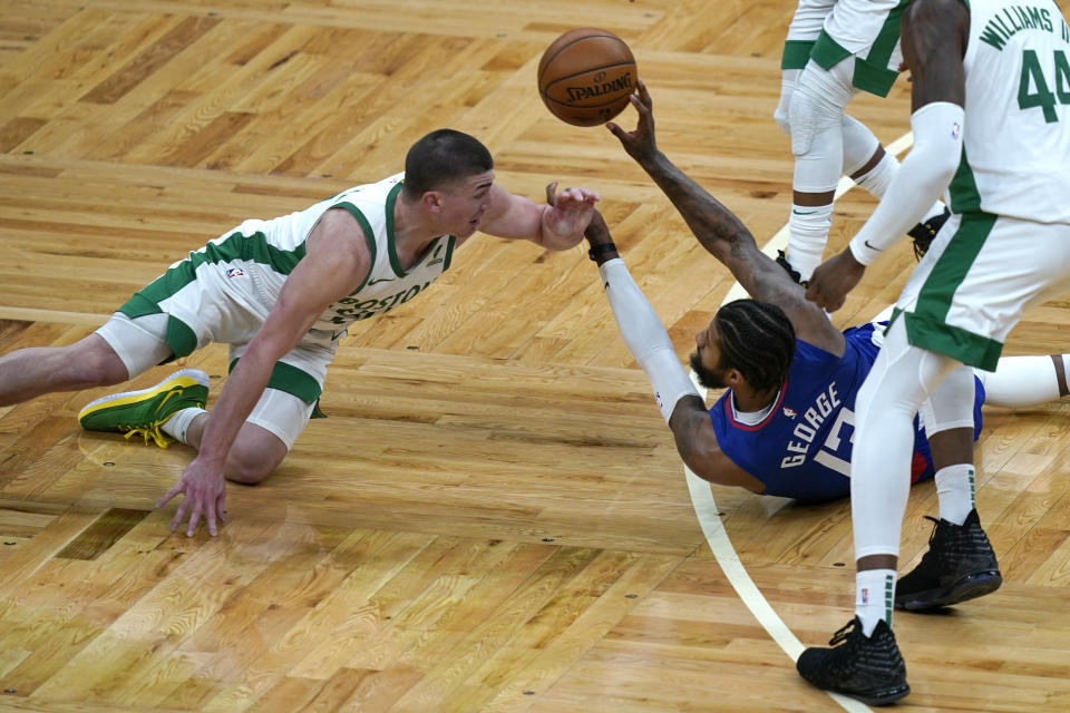
[{"label": "white jersey reading Williams 44 on standing player", "polygon": [[1070,223],[1070,30],[1051,0],[970,0],[955,213]]}]

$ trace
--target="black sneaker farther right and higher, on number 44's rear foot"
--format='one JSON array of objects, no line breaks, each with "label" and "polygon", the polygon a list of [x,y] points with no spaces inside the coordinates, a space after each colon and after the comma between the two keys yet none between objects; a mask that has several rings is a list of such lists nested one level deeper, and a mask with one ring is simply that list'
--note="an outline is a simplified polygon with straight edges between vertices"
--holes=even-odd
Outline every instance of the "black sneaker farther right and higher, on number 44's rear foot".
[{"label": "black sneaker farther right and higher, on number 44's rear foot", "polygon": [[1000,588],[1000,565],[975,509],[962,525],[926,518],[936,524],[928,537],[928,551],[895,585],[896,608],[937,609]]}]

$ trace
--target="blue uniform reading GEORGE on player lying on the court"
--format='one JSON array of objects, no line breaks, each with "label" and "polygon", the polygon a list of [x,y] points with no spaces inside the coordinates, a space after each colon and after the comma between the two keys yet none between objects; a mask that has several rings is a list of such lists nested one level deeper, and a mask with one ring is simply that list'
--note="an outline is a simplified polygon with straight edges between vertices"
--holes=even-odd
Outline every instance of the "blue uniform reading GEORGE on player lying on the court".
[{"label": "blue uniform reading GEORGE on player lying on the court", "polygon": [[[881,325],[883,329],[883,324]],[[766,484],[762,495],[827,500],[850,492],[855,394],[877,359],[874,324],[844,332],[843,356],[796,340],[795,360],[772,411],[756,426],[732,418],[731,390],[710,409],[717,441],[737,466]],[[976,384],[974,438],[984,391]],[[914,418],[914,482],[933,476],[924,429]]]}]

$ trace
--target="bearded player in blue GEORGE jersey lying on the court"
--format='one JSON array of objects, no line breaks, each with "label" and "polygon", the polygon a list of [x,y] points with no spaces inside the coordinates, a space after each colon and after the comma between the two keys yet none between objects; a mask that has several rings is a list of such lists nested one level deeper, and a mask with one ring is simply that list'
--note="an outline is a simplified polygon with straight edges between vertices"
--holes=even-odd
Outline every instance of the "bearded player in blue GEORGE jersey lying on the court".
[{"label": "bearded player in blue GEORGE jersey lying on the court", "polygon": [[[728,389],[708,410],[597,212],[587,227],[590,255],[621,335],[651,381],[680,456],[697,475],[719,485],[800,500],[846,496],[855,397],[877,356],[882,326],[836,329],[758,250],[746,226],[658,149],[642,82],[632,102],[639,111],[635,130],[616,124],[609,129],[752,297],[722,306],[696,336],[691,365],[699,381]],[[1067,395],[1057,370],[1068,362],[1062,355],[1018,356],[1001,360],[996,373],[979,371],[972,427],[926,438],[927,421],[915,422],[914,481],[932,477],[934,469],[972,463],[982,400],[1025,407]]]}]

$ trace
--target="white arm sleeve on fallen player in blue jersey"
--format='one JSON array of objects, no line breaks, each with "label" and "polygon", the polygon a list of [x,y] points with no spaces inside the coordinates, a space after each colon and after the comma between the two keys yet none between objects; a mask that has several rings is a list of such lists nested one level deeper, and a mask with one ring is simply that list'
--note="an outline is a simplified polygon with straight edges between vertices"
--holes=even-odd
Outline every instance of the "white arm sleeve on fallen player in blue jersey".
[{"label": "white arm sleeve on fallen player in blue jersey", "polygon": [[599,266],[599,273],[621,336],[646,372],[658,408],[668,423],[677,401],[685,395],[698,397],[699,392],[677,359],[658,313],[632,280],[624,261],[620,257],[606,261]]}]

